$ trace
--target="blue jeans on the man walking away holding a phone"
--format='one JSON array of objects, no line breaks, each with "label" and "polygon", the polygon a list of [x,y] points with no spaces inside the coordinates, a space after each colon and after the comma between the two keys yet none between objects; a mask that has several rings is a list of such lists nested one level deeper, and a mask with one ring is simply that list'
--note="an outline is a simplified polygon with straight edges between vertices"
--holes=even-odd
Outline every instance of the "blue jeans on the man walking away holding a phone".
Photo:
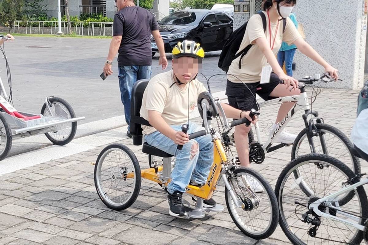
[{"label": "blue jeans on the man walking away holding a phone", "polygon": [[135,82],[141,79],[151,78],[151,66],[143,65],[125,65],[119,66],[119,87],[121,102],[124,105],[125,122],[130,129],[130,100],[132,89]]}]

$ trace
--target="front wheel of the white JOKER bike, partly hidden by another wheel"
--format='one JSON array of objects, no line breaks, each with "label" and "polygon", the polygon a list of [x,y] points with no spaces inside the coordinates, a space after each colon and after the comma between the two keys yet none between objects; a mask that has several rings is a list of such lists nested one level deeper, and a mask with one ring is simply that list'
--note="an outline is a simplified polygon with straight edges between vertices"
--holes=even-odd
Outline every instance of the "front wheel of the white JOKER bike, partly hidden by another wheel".
[{"label": "front wheel of the white JOKER bike, partly hidden by another wheel", "polygon": [[[298,156],[310,153],[326,154],[332,156],[333,158],[339,159],[348,167],[350,167],[353,172],[359,174],[360,162],[359,159],[351,152],[353,144],[346,137],[346,135],[331,125],[316,123],[315,126],[317,128],[317,136],[312,137],[315,152],[312,152],[308,142],[307,134],[305,130],[302,130],[298,134],[293,144],[293,148],[291,149],[291,160],[297,158]],[[300,177],[298,171],[294,172],[294,176],[296,179]],[[303,181],[301,181],[300,187],[304,191],[305,195],[308,197],[312,195],[308,186],[305,186]],[[345,196],[341,197],[342,199],[340,200],[340,205],[347,203],[351,198],[353,198],[353,195],[353,191],[346,193]]]}]

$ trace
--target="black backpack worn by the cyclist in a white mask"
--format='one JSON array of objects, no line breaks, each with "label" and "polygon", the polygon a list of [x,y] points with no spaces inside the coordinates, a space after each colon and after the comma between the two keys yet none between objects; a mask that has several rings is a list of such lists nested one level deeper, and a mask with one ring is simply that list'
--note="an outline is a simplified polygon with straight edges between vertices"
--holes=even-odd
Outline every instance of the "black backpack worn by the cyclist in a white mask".
[{"label": "black backpack worn by the cyclist in a white mask", "polygon": [[[263,31],[266,32],[267,26],[266,15],[263,12],[259,12],[258,14],[261,15]],[[286,27],[286,19],[282,19],[282,22],[283,22],[282,33],[284,33]],[[236,29],[233,33],[231,33],[229,39],[227,39],[226,43],[222,48],[218,66],[226,73],[227,71],[229,71],[231,62],[236,58],[238,58],[240,55],[241,57],[239,60],[239,69],[241,69],[241,59],[243,59],[244,55],[246,55],[250,50],[250,48],[253,46],[253,44],[249,44],[243,50],[239,51],[241,42],[243,41],[245,29],[247,29],[247,24],[248,21],[245,22],[245,24],[240,26],[238,29]]]}]

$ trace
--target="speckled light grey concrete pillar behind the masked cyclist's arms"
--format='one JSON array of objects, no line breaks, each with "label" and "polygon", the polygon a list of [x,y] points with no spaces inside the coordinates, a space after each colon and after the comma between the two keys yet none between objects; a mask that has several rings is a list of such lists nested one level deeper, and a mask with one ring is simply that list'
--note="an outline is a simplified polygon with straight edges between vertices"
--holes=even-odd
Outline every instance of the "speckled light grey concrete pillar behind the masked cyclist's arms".
[{"label": "speckled light grey concrete pillar behind the masked cyclist's arms", "polygon": [[[306,41],[332,66],[343,82],[321,84],[323,87],[358,89],[364,80],[367,37],[367,0],[298,1],[294,13],[305,30]],[[298,54],[294,76],[322,73],[323,68]]]}]

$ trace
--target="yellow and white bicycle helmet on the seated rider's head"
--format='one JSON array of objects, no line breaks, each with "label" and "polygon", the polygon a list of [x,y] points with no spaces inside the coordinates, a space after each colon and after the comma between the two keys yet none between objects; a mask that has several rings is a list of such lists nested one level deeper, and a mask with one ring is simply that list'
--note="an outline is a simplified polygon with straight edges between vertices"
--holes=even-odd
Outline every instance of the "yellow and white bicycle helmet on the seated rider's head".
[{"label": "yellow and white bicycle helmet on the seated rider's head", "polygon": [[201,44],[190,40],[183,40],[183,42],[178,42],[178,44],[171,51],[173,59],[180,57],[193,57],[197,59],[203,59],[205,57],[205,52],[201,47]]}]

